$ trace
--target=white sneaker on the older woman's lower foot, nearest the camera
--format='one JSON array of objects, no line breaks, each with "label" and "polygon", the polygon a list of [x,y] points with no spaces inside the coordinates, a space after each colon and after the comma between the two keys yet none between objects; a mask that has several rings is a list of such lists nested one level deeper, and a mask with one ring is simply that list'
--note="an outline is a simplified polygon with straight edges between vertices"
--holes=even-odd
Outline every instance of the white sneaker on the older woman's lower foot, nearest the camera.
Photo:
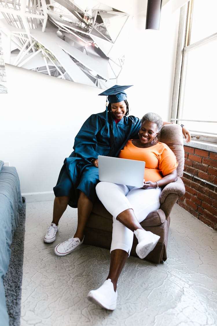
[{"label": "white sneaker on the older woman's lower foot, nearest the camera", "polygon": [[105,309],[115,310],[117,291],[115,292],[111,279],[107,279],[99,289],[89,291],[88,299]]}]

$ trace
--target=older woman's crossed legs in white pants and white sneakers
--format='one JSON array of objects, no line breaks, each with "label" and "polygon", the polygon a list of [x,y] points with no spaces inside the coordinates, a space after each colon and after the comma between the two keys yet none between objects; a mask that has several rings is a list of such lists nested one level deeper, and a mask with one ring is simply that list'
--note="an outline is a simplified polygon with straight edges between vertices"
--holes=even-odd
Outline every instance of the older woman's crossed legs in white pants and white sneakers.
[{"label": "older woman's crossed legs in white pants and white sneakers", "polygon": [[[101,182],[96,192],[105,208],[113,215],[113,232],[109,274],[102,286],[88,293],[88,299],[114,310],[117,300],[117,280],[130,254],[133,234],[138,239],[136,252],[144,258],[155,247],[159,236],[145,231],[140,222],[159,208],[161,189],[144,190]],[[135,213],[134,213],[135,212]]]}]

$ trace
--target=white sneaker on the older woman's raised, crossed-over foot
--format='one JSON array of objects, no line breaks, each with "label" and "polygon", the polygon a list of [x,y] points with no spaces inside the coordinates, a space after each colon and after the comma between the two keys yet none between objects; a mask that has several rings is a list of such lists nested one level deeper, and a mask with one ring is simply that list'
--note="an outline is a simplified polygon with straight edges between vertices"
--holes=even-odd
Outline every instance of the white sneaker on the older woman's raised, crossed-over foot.
[{"label": "white sneaker on the older woman's raised, crossed-over foot", "polygon": [[140,229],[135,230],[134,234],[139,242],[136,246],[136,253],[139,258],[143,259],[154,249],[160,237],[150,231]]}]

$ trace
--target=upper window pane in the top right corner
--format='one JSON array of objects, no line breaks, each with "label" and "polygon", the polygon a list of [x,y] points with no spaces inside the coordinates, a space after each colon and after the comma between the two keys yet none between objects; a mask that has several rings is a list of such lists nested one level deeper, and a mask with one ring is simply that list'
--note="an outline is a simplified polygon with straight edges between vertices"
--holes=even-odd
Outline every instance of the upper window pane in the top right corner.
[{"label": "upper window pane in the top right corner", "polygon": [[190,44],[217,33],[217,0],[194,0]]}]

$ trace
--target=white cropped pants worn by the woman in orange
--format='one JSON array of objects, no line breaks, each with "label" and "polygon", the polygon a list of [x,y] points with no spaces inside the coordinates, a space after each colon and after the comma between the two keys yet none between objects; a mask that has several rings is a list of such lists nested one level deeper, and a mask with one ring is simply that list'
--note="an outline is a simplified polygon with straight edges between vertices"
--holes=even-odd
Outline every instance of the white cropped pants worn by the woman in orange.
[{"label": "white cropped pants worn by the woman in orange", "polygon": [[115,249],[122,249],[130,254],[133,244],[133,232],[116,220],[117,215],[131,208],[139,223],[142,222],[149,213],[159,209],[161,190],[161,188],[142,189],[110,182],[97,184],[97,196],[113,216],[110,252]]}]

